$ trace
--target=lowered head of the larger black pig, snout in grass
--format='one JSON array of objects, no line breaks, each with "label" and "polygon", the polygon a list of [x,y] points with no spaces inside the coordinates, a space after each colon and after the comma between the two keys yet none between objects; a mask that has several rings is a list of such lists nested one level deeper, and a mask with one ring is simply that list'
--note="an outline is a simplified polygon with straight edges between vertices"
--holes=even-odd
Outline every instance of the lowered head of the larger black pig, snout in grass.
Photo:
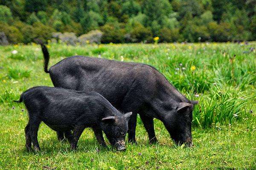
[{"label": "lowered head of the larger black pig, snout in grass", "polygon": [[197,101],[177,103],[165,115],[163,123],[175,144],[192,146],[192,111],[193,106],[197,103]]}]

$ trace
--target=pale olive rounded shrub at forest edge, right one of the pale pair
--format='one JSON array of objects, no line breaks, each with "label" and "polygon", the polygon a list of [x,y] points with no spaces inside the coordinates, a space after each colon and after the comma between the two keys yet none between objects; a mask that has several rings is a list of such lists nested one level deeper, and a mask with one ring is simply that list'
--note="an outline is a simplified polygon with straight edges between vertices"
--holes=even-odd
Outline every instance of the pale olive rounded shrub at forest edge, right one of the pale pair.
[{"label": "pale olive rounded shrub at forest edge, right one of the pale pair", "polygon": [[88,32],[87,34],[83,34],[80,37],[78,37],[78,40],[81,44],[85,44],[87,43],[87,41],[89,43],[97,43],[99,44],[101,42],[102,39],[102,31],[99,30],[93,30]]}]

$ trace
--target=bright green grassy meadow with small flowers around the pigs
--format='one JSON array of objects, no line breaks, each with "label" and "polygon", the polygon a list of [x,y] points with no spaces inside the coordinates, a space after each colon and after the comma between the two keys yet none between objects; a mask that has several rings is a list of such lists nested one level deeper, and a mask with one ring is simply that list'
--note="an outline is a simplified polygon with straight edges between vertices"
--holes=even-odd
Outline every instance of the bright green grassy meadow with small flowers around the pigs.
[{"label": "bright green grassy meadow with small flowers around the pigs", "polygon": [[27,112],[12,100],[33,86],[53,85],[43,71],[39,45],[0,46],[0,169],[256,169],[256,42],[47,46],[50,66],[89,55],[157,68],[189,99],[199,100],[193,112],[194,147],[175,146],[158,120],[159,142],[148,144],[138,117],[138,144],[127,144],[125,152],[100,148],[90,129],[71,151],[44,123],[38,132],[42,151],[26,152]]}]

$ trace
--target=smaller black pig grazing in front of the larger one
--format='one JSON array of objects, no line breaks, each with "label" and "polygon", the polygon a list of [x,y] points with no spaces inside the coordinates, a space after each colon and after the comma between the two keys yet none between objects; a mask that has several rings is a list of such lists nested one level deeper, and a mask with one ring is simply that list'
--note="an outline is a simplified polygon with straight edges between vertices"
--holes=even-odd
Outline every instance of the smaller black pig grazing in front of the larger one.
[{"label": "smaller black pig grazing in front of the larger one", "polygon": [[96,92],[38,86],[25,91],[15,102],[22,101],[29,113],[29,122],[25,127],[28,150],[31,150],[31,142],[35,150],[40,150],[37,135],[41,121],[64,133],[72,149],[76,149],[84,128],[92,127],[99,144],[106,146],[103,130],[111,145],[117,150],[125,150],[125,134],[131,112],[120,113]]}]

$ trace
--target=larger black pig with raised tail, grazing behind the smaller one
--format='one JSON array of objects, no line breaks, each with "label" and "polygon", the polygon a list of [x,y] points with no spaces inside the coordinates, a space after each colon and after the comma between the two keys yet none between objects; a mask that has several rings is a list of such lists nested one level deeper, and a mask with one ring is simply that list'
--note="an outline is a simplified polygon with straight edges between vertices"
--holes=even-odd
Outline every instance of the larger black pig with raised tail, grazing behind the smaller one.
[{"label": "larger black pig with raised tail, grazing behind the smaller one", "polygon": [[[44,71],[55,87],[79,91],[96,91],[117,109],[133,114],[128,123],[128,140],[135,141],[137,113],[148,132],[149,141],[157,142],[153,118],[160,119],[175,143],[192,145],[193,106],[169,81],[150,65],[107,59],[73,56],[49,70],[49,53],[45,45]],[[60,133],[58,134],[60,136]]]}]

